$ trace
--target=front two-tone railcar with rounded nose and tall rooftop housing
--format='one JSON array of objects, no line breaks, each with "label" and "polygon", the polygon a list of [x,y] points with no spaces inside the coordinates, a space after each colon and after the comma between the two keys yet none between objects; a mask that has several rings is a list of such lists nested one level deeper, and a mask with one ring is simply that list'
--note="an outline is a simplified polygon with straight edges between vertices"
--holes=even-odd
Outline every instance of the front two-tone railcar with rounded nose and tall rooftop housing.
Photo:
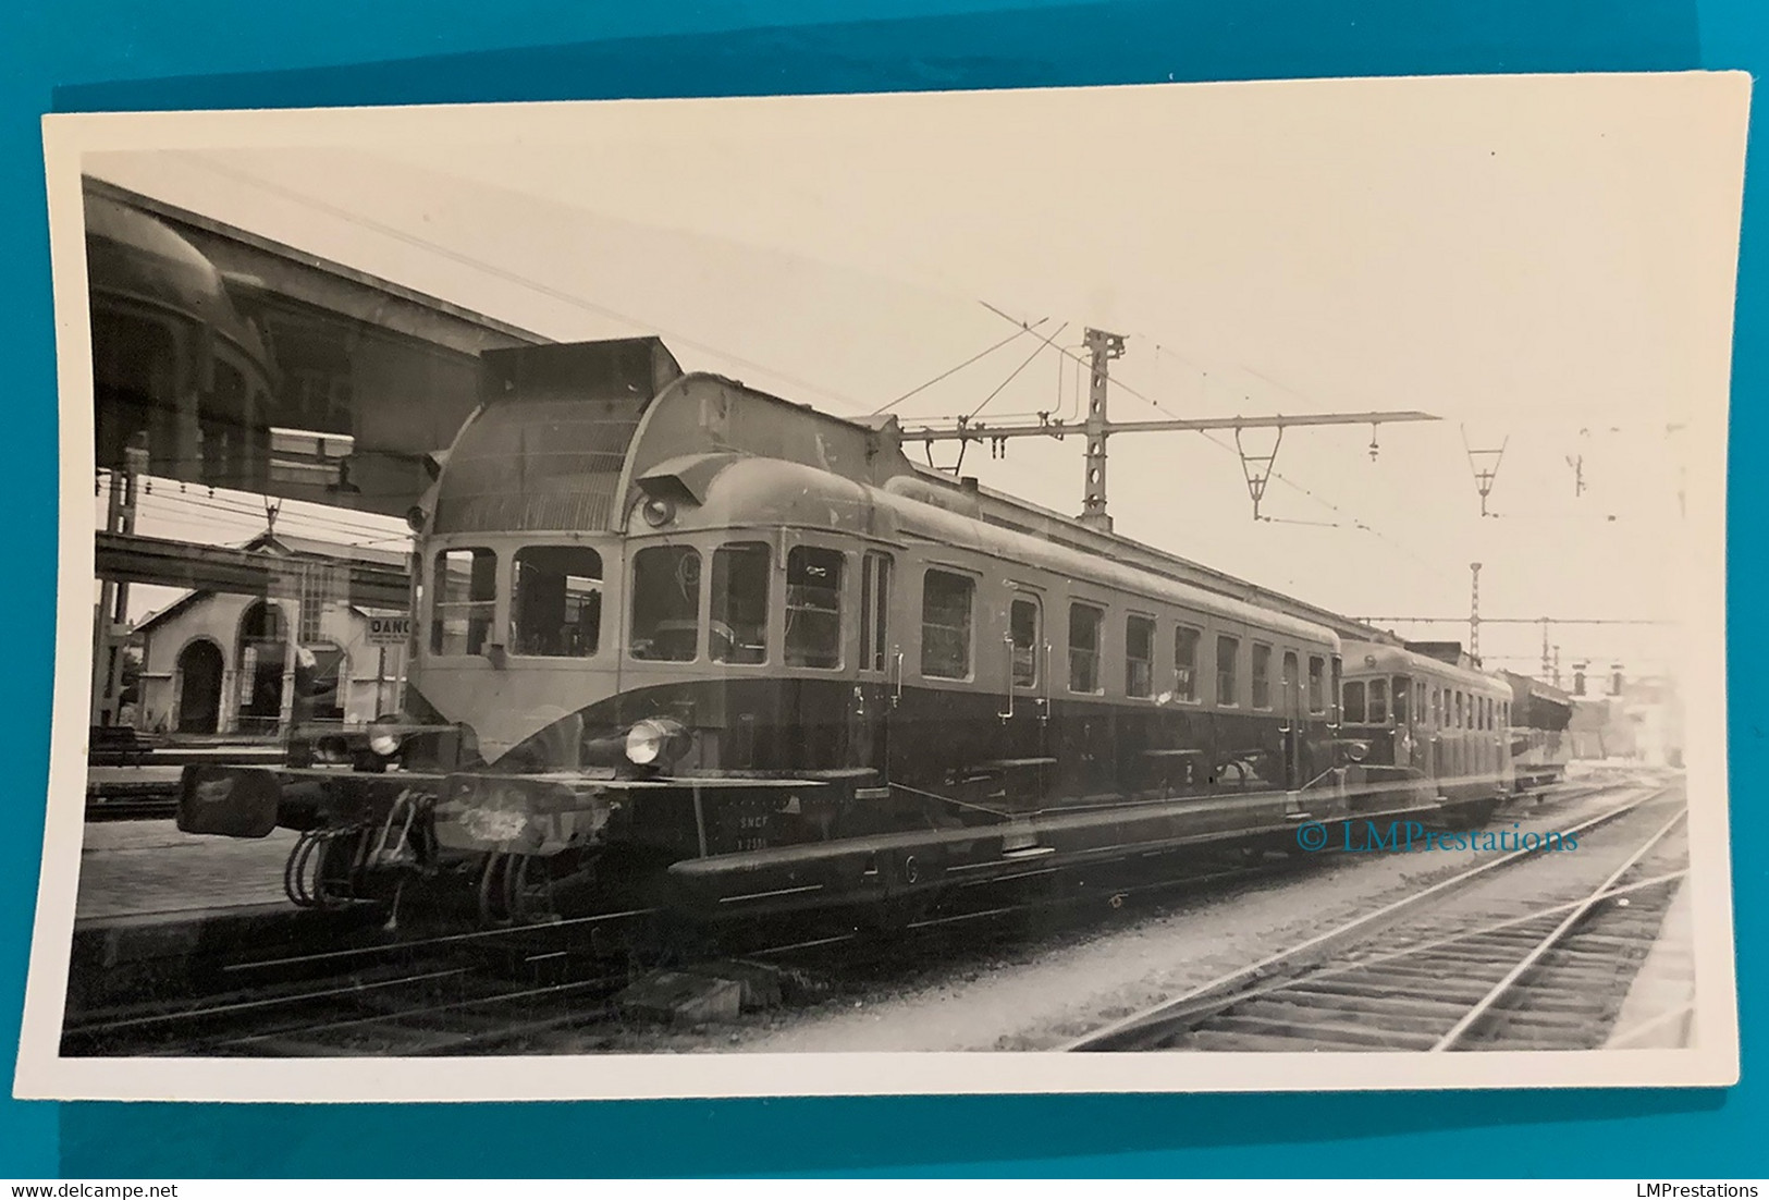
[{"label": "front two-tone railcar with rounded nose and tall rooftop housing", "polygon": [[485,365],[370,761],[186,772],[182,828],[302,830],[304,899],[886,904],[1442,807],[1341,758],[1332,628],[922,471],[893,421],[649,338]]}]

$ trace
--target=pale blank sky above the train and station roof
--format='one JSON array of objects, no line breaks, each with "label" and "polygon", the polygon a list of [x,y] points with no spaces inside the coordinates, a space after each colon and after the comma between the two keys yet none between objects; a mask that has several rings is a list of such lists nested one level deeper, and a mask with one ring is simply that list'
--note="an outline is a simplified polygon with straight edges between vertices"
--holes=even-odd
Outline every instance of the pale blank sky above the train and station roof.
[{"label": "pale blank sky above the train and station roof", "polygon": [[[1233,435],[1111,442],[1120,533],[1350,616],[1465,618],[1479,561],[1484,616],[1557,618],[1564,664],[1656,673],[1689,611],[1679,556],[1718,536],[1684,508],[1725,469],[1744,94],[1721,76],[92,120],[101,179],[550,338],[655,333],[837,414],[1072,414],[1060,347],[1090,326],[1129,340],[1120,419],[1438,414],[1375,455],[1367,425],[1290,430],[1261,522]],[[1470,450],[1500,448],[1482,519]],[[1079,510],[1079,439],[973,446],[962,471]],[[257,497],[168,487],[143,533],[264,527]],[[1539,625],[1481,642],[1539,665]]]}]

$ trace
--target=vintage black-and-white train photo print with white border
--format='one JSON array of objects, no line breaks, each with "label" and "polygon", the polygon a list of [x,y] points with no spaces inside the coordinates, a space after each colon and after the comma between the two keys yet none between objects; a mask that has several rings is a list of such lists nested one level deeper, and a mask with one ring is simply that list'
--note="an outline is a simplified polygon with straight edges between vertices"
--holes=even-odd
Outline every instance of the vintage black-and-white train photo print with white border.
[{"label": "vintage black-and-white train photo print with white border", "polygon": [[1728,1083],[1746,108],[48,119],[19,1094]]}]

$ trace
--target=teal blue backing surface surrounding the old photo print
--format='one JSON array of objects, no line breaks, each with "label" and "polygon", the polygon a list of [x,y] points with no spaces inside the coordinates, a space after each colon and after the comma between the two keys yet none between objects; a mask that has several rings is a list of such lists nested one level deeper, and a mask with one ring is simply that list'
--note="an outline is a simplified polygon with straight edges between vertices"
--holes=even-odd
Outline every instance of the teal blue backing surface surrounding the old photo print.
[{"label": "teal blue backing surface surrounding the old photo print", "polygon": [[[0,288],[12,536],[0,763],[0,1030],[16,1044],[39,871],[53,641],[57,432],[37,119],[53,110],[255,108],[1164,80],[1757,69],[1750,0],[65,0],[0,12]],[[1751,156],[1762,154],[1762,122]],[[1746,189],[1732,414],[1735,529],[1769,517],[1762,388],[1769,198]],[[1769,1173],[1762,1027],[1769,724],[1751,596],[1730,543],[1730,736],[1744,1083],[1707,1092],[1070,1096],[469,1106],[23,1104],[0,1177],[198,1175],[1619,1175]]]}]

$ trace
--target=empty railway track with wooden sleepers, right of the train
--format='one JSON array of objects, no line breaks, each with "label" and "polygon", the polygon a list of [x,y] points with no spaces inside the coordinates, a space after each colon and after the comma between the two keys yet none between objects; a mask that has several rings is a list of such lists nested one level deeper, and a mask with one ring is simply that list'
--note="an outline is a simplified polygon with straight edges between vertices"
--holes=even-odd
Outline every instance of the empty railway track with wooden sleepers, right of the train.
[{"label": "empty railway track with wooden sleepers, right of the train", "polygon": [[[1070,1051],[1458,1051],[1601,1044],[1688,869],[1656,788],[1070,1041]],[[1580,860],[1580,855],[1585,855]]]}]

